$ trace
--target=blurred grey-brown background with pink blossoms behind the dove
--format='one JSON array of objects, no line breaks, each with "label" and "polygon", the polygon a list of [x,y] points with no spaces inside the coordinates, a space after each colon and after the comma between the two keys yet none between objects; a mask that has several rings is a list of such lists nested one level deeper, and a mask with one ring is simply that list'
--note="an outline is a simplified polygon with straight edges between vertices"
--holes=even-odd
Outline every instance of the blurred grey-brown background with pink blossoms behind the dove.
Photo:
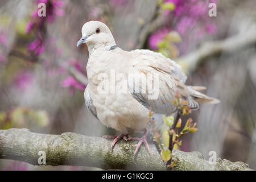
[{"label": "blurred grey-brown background with pink blossoms behind the dove", "polygon": [[[39,17],[41,2],[46,16]],[[115,134],[86,110],[88,51],[86,44],[76,48],[82,25],[100,20],[122,49],[162,52],[181,65],[187,85],[207,86],[204,93],[221,100],[190,115],[199,130],[179,150],[207,160],[216,151],[256,169],[255,10],[249,0],[1,0],[0,129]],[[0,160],[0,170],[46,169],[97,168]]]}]

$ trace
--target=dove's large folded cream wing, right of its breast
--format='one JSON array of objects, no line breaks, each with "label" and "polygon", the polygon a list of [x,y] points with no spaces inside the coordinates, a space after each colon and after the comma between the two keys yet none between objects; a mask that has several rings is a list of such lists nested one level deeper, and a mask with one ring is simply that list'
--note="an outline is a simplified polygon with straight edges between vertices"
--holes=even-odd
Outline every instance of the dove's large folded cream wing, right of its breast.
[{"label": "dove's large folded cream wing, right of its breast", "polygon": [[171,114],[175,111],[171,101],[178,91],[190,106],[198,106],[184,85],[187,77],[180,65],[149,50],[131,52],[134,53],[134,59],[129,69],[128,86],[137,101],[148,108],[151,106],[156,113]]}]

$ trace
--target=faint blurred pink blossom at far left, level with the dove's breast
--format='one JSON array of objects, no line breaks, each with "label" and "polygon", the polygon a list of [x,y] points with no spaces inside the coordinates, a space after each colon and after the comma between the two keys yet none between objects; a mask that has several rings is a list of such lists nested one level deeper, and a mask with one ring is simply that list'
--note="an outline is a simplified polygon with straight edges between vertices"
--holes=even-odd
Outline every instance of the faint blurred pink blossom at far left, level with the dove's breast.
[{"label": "faint blurred pink blossom at far left, level with the dove's breast", "polygon": [[26,90],[34,79],[32,72],[20,72],[16,75],[14,84],[20,90]]}]

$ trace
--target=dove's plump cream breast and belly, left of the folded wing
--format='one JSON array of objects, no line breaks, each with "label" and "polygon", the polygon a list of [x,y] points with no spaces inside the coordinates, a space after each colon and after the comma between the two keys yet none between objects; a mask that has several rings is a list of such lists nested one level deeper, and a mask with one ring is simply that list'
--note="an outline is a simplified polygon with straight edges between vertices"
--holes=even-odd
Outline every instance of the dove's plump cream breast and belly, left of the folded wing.
[{"label": "dove's plump cream breast and belly, left of the folded wing", "polygon": [[114,53],[90,55],[86,69],[98,119],[123,134],[131,134],[146,128],[148,109],[129,93],[126,59]]}]

